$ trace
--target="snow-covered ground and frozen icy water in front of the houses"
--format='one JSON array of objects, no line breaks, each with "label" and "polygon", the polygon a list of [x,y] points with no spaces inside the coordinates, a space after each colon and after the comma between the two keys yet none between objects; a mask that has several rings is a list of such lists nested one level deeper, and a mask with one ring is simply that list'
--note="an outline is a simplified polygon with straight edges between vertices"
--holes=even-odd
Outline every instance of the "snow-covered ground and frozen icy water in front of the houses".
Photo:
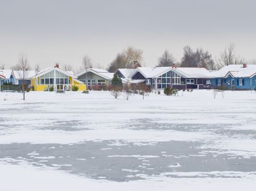
[{"label": "snow-covered ground and frozen icy water in front of the houses", "polygon": [[[254,190],[256,94],[0,92],[0,190]],[[15,184],[13,184],[15,182]]]}]

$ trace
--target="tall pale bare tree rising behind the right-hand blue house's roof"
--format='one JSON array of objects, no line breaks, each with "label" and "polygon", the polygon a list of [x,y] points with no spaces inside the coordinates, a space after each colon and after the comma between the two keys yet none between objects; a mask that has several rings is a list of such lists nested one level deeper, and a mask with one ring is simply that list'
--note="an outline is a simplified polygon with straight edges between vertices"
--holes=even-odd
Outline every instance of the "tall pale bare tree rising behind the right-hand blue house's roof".
[{"label": "tall pale bare tree rising behind the right-hand blue house's roof", "polygon": [[230,64],[243,64],[245,60],[235,52],[235,44],[231,42],[229,46],[220,54],[218,67],[229,66]]}]

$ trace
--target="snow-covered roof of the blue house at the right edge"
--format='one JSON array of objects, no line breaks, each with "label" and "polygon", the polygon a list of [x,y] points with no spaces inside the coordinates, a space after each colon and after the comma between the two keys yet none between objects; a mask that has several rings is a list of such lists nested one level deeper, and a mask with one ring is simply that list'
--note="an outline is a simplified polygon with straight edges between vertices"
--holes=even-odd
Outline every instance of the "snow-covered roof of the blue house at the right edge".
[{"label": "snow-covered roof of the blue house at the right edge", "polygon": [[225,78],[229,74],[233,78],[243,78],[243,77],[253,77],[256,75],[256,65],[247,64],[246,67],[243,67],[242,64],[232,64],[229,66],[222,67],[219,71],[211,72],[215,78]]}]

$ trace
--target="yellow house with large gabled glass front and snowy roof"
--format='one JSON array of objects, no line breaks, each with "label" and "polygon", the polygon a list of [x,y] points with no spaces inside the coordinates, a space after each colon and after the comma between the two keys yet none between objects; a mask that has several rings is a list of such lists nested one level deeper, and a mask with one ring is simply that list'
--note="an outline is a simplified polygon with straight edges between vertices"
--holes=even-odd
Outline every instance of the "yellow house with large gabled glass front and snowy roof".
[{"label": "yellow house with large gabled glass front and snowy roof", "polygon": [[72,72],[61,70],[58,64],[38,72],[31,78],[31,86],[34,91],[45,91],[53,87],[54,90],[71,91],[73,86],[78,87],[78,91],[85,91],[86,86],[77,79]]}]

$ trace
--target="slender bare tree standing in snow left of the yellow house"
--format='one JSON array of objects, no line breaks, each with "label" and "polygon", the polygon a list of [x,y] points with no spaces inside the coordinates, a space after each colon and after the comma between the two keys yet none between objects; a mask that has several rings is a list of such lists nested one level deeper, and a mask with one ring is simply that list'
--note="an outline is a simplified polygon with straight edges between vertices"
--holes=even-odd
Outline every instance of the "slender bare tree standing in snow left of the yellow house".
[{"label": "slender bare tree standing in snow left of the yellow house", "polygon": [[30,69],[29,63],[27,62],[26,54],[24,54],[23,52],[19,54],[18,64],[16,64],[14,68],[17,69],[19,78],[22,80],[21,87],[23,92],[23,100],[25,100],[25,85]]}]

